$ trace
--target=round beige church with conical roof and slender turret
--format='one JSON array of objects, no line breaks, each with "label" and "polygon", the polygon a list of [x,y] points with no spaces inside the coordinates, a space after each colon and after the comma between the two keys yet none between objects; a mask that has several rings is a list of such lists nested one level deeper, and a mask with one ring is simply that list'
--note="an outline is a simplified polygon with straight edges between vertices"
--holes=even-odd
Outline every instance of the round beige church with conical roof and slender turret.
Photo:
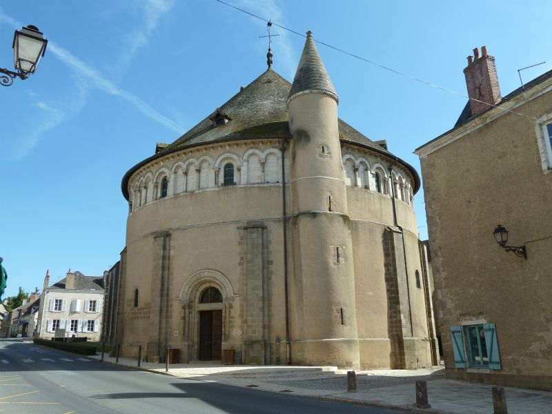
[{"label": "round beige church with conical roof and slender turret", "polygon": [[416,368],[437,362],[413,167],[337,117],[308,33],[132,167],[115,342],[181,362]]}]

